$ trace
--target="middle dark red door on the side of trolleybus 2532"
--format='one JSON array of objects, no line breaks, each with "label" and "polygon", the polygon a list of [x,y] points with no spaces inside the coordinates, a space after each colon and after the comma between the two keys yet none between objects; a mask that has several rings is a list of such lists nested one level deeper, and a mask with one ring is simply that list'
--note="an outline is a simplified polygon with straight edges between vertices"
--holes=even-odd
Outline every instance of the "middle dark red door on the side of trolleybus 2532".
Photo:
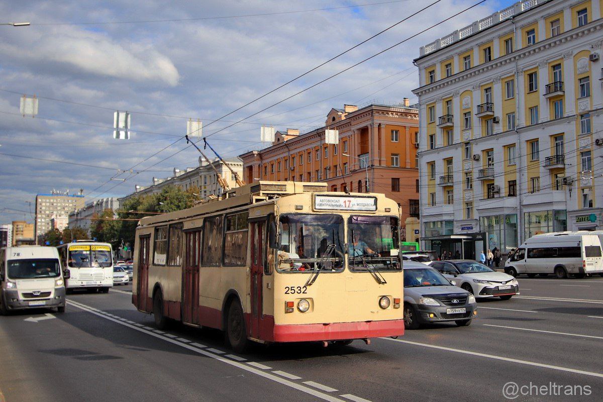
[{"label": "middle dark red door on the side of trolleybus 2532", "polygon": [[186,233],[185,269],[182,280],[183,316],[187,324],[199,324],[199,264],[201,260],[201,231]]}]

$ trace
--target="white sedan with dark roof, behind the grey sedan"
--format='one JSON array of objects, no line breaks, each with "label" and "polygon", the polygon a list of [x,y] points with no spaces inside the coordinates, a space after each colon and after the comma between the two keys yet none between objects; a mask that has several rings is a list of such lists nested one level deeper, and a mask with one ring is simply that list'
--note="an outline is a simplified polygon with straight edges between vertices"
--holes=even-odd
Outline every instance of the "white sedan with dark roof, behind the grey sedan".
[{"label": "white sedan with dark roof, behind the grey sedan", "polygon": [[429,265],[440,271],[448,280],[475,295],[476,298],[500,297],[509,300],[519,294],[516,278],[496,272],[472,260],[432,261]]}]

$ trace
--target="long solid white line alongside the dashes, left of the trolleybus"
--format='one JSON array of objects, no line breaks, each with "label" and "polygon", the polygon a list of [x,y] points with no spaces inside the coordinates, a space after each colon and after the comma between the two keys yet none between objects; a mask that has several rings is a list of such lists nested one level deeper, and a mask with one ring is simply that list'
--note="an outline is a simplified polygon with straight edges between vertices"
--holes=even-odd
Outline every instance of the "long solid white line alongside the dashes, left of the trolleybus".
[{"label": "long solid white line alongside the dashes, left of the trolleybus", "polygon": [[87,311],[87,312],[89,312],[91,314],[97,315],[97,316],[99,316],[101,318],[107,319],[109,321],[116,322],[116,324],[124,325],[124,327],[128,327],[128,328],[131,328],[133,330],[145,333],[147,335],[154,336],[155,338],[162,339],[162,341],[169,342],[169,343],[174,344],[174,345],[178,345],[178,346],[186,348],[188,350],[192,350],[192,351],[194,351],[194,352],[196,352],[198,354],[203,354],[203,356],[211,357],[212,359],[216,359],[219,362],[223,362],[223,363],[226,363],[226,364],[231,365],[233,367],[236,367],[236,368],[239,368],[239,369],[243,369],[243,370],[245,370],[247,372],[251,372],[253,374],[259,375],[260,377],[264,377],[264,378],[267,378],[268,380],[272,380],[274,382],[277,382],[277,383],[279,383],[281,385],[285,385],[285,386],[288,386],[290,388],[297,389],[298,391],[305,392],[306,394],[313,395],[314,397],[320,398],[322,400],[329,401],[329,402],[345,402],[342,399],[335,398],[335,397],[333,397],[332,395],[329,395],[329,394],[324,394],[324,392],[317,391],[315,389],[309,388],[308,386],[301,385],[301,384],[298,384],[298,383],[294,383],[292,381],[285,380],[285,378],[281,378],[281,377],[279,377],[277,375],[274,375],[274,374],[271,374],[269,372],[261,371],[259,369],[250,367],[248,363],[247,364],[245,364],[245,363],[239,363],[239,362],[236,362],[235,360],[227,359],[226,357],[219,356],[218,354],[209,353],[209,349],[198,349],[198,348],[193,347],[192,344],[191,345],[184,344],[182,342],[175,341],[175,339],[166,339],[163,335],[159,335],[159,334],[153,333],[152,331],[147,331],[147,330],[144,330],[142,328],[136,327],[134,325],[127,324],[126,322],[119,321],[118,319],[113,319],[113,318],[104,316],[104,315],[102,315],[100,313],[96,313],[93,310],[90,310],[89,307],[86,306],[85,304],[74,303],[71,300],[68,300],[67,303],[71,304],[72,306],[78,307],[79,309],[82,309],[84,311]]}]

